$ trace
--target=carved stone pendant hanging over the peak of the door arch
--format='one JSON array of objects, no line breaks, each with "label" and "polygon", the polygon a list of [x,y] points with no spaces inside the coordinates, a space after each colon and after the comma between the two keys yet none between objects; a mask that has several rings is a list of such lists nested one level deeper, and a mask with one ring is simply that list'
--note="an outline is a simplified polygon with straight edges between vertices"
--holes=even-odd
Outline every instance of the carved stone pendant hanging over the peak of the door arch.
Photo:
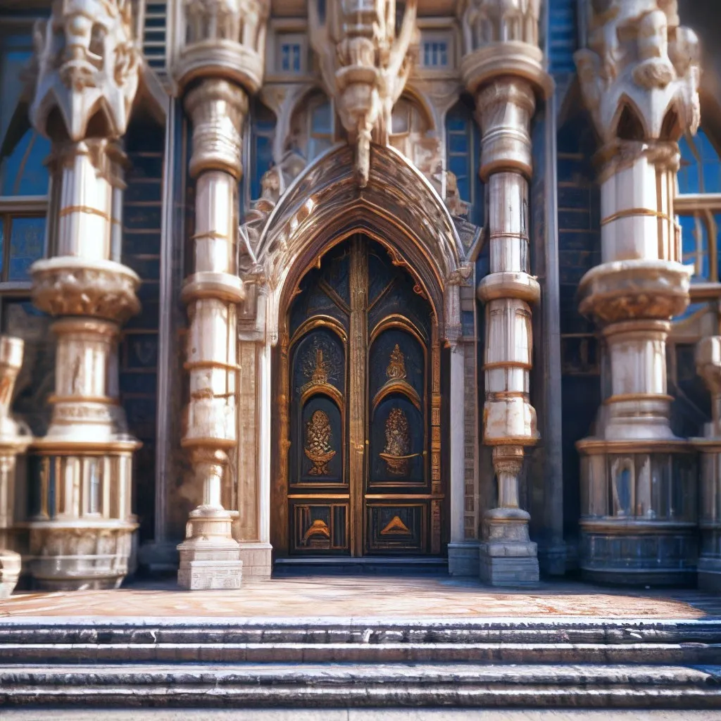
[{"label": "carved stone pendant hanging over the peak of the door arch", "polygon": [[355,145],[361,187],[368,184],[371,140],[388,143],[391,112],[410,73],[416,10],[417,0],[408,0],[396,32],[395,0],[336,0],[327,6],[324,25],[309,3],[311,39],[324,83]]}]

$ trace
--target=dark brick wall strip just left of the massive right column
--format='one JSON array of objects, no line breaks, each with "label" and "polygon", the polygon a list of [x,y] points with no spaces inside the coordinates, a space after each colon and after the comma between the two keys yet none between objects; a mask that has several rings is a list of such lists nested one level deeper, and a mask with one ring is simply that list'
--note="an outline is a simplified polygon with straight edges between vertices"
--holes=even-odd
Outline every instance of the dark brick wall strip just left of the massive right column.
[{"label": "dark brick wall strip just left of the massive right column", "polygon": [[576,291],[601,262],[600,191],[592,157],[596,138],[585,114],[558,131],[558,239],[561,309],[563,508],[567,541],[578,535],[580,464],[575,443],[589,434],[601,404],[596,327],[578,312]]}]

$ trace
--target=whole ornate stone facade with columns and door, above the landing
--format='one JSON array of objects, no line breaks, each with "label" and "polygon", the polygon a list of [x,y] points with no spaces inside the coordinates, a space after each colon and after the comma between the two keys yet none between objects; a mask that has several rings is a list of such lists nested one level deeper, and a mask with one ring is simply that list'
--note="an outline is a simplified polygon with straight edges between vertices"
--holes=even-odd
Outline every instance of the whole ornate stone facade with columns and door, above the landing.
[{"label": "whole ornate stone facade with columns and door, above the landing", "polygon": [[3,251],[2,587],[17,554],[39,588],[399,556],[717,587],[718,17],[689,7],[699,43],[686,5],[1,11],[0,220],[45,218],[19,283]]}]

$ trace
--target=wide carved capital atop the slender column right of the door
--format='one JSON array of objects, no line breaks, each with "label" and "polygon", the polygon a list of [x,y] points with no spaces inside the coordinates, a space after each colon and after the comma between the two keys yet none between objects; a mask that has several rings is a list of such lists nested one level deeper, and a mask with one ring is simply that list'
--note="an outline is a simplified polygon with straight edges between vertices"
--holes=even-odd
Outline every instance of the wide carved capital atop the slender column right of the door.
[{"label": "wide carved capital atop the slender column right of the door", "polygon": [[553,92],[539,47],[540,9],[540,0],[461,0],[461,75],[469,92],[500,76],[526,79],[544,97]]}]

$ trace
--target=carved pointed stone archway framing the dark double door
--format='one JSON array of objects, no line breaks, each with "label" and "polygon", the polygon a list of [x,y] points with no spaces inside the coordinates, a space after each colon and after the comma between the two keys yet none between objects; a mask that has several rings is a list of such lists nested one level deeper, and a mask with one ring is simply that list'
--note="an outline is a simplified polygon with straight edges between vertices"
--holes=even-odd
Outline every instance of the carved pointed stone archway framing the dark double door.
[{"label": "carved pointed stone archway framing the dark double door", "polygon": [[[277,446],[278,423],[282,423],[277,417],[282,410],[278,410],[278,398],[273,393],[275,389],[277,394],[278,389],[271,376],[278,377],[283,354],[283,348],[273,353],[277,359],[273,365],[271,346],[278,344],[283,335],[283,318],[305,273],[334,244],[351,234],[365,234],[386,247],[394,263],[407,268],[428,298],[438,342],[454,347],[461,333],[459,286],[471,271],[443,200],[423,174],[389,147],[371,146],[370,174],[363,188],[356,182],[353,149],[330,149],[296,178],[263,226],[252,249],[253,271],[246,278],[249,298],[255,298],[251,301],[255,311],[247,308],[247,332],[240,324],[239,362],[244,366],[247,358],[253,366],[251,370],[246,364],[242,373],[248,374],[248,381],[252,373],[257,418],[257,428],[249,429],[247,441],[241,439],[239,448],[239,535],[249,539],[242,540],[242,546],[248,549],[244,558],[247,570],[260,566],[255,555],[260,552],[267,553],[262,565],[270,570],[271,486],[278,477],[277,469],[271,473],[271,459],[278,455],[271,439]],[[451,395],[455,391],[457,397],[456,386],[463,384],[464,366],[451,360],[449,368]],[[242,379],[240,386],[244,384]],[[454,495],[461,498],[464,492],[463,404],[456,411],[458,417],[448,425],[456,426],[460,433],[448,441],[451,460],[445,473],[451,508],[454,502],[458,505]],[[255,482],[249,478],[253,465],[255,472],[250,476],[255,477]],[[250,497],[247,506],[242,500],[244,495]],[[275,514],[273,523],[278,523]],[[451,519],[451,536],[453,526]],[[262,573],[260,568],[258,572]]]}]

